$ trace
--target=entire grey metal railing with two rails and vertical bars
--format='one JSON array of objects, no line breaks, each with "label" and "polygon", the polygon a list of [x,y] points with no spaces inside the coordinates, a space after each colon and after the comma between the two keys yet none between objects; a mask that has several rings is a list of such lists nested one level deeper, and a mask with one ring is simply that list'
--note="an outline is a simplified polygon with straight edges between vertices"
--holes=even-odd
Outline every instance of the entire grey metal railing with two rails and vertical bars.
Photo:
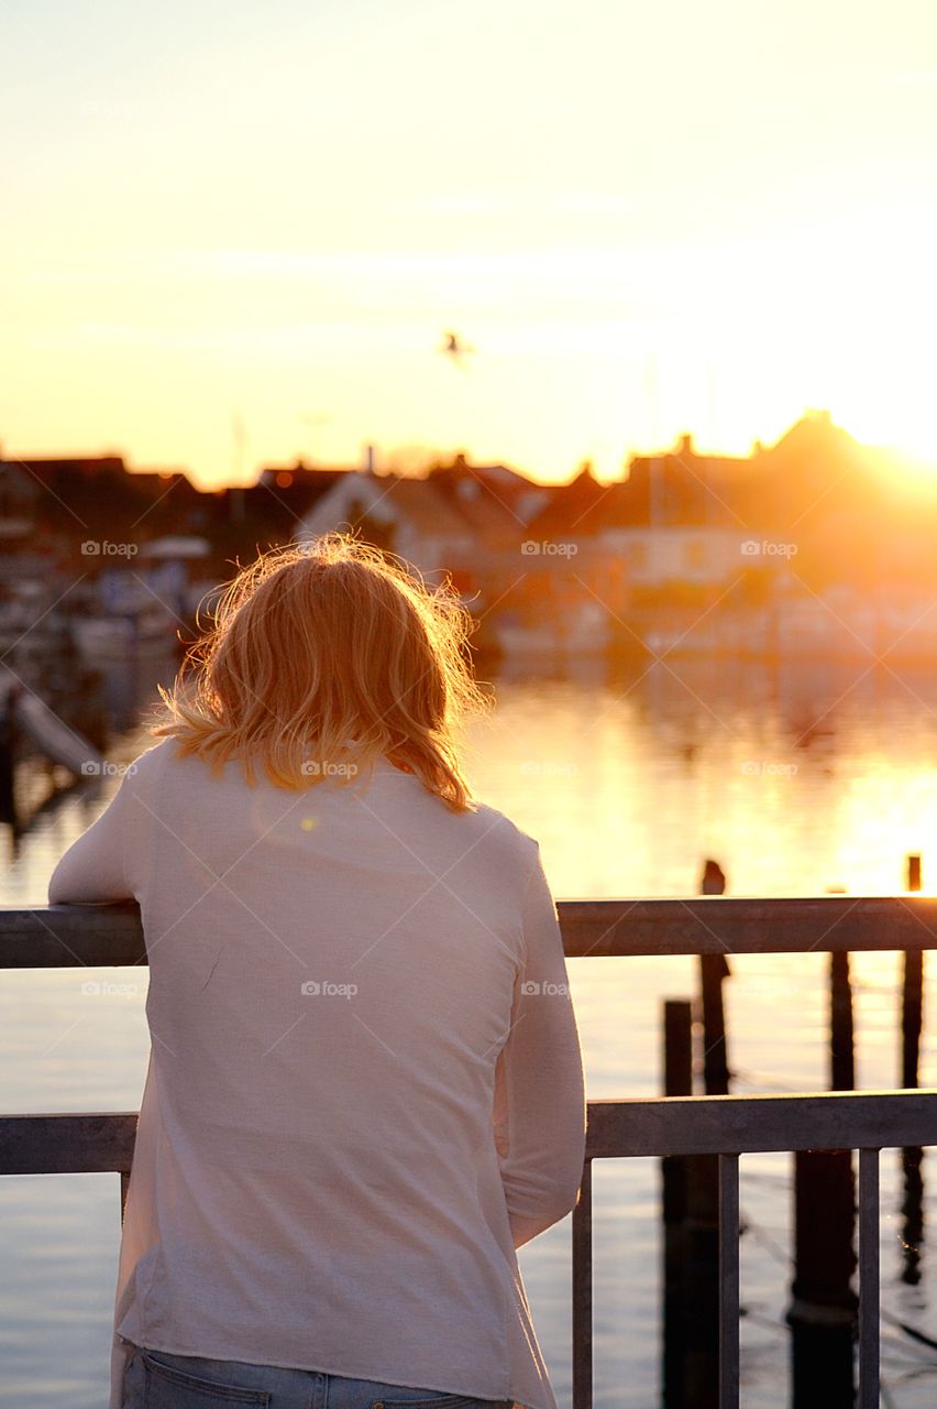
[{"label": "entire grey metal railing with two rails and vertical bars", "polygon": [[[937,948],[937,898],[567,900],[570,958],[802,954]],[[0,968],[139,965],[135,905],[0,910]],[[136,1113],[0,1116],[0,1174],[120,1172],[121,1206]],[[739,1157],[858,1150],[861,1409],[879,1402],[879,1206],[882,1148],[937,1144],[937,1091],[594,1100],[573,1213],[573,1396],[592,1405],[592,1161],[667,1155],[719,1160],[722,1409],[739,1403]]]}]

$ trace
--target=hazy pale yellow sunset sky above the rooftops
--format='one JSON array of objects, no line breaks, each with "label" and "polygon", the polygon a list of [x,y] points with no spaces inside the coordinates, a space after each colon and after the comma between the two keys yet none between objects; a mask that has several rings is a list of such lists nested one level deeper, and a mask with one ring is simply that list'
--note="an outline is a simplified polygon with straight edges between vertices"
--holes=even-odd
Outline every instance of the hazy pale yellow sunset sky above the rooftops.
[{"label": "hazy pale yellow sunset sky above the rooftops", "polygon": [[6,0],[0,54],[10,457],[612,476],[826,406],[937,461],[934,0]]}]

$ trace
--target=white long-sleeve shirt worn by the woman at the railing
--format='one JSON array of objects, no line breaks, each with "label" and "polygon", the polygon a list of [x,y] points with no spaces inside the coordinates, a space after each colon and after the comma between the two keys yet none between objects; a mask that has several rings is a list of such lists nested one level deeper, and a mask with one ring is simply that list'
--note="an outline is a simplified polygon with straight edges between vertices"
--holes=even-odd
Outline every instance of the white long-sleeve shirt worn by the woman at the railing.
[{"label": "white long-sleeve shirt worn by the woman at the railing", "polygon": [[515,1248],[574,1205],[585,1103],[537,844],[381,761],[250,788],[165,740],[51,903],[139,902],[151,1057],[127,1341],[556,1409]]}]

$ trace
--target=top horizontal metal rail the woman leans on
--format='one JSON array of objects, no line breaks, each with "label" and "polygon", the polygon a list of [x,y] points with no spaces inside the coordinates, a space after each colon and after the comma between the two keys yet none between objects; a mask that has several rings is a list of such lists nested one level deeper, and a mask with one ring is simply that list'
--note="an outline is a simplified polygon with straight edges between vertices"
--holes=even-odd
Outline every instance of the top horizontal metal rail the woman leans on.
[{"label": "top horizontal metal rail the woman leans on", "polygon": [[[570,958],[937,948],[937,896],[920,893],[560,900],[557,910]],[[0,968],[145,962],[134,902],[0,909]]]}]

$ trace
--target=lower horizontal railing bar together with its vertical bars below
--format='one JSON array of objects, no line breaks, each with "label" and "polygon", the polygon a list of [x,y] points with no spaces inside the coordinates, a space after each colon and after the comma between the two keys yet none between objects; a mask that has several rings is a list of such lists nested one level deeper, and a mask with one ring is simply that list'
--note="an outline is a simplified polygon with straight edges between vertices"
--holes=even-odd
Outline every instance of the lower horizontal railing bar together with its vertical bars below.
[{"label": "lower horizontal railing bar together with its vertical bars below", "polygon": [[[0,1116],[0,1174],[120,1172],[134,1158],[136,1113]],[[937,1144],[937,1091],[791,1096],[661,1096],[592,1100],[573,1213],[573,1384],[592,1405],[592,1161],[719,1157],[722,1409],[739,1405],[739,1157],[765,1151],[860,1151],[860,1409],[879,1399],[878,1153]]]}]

